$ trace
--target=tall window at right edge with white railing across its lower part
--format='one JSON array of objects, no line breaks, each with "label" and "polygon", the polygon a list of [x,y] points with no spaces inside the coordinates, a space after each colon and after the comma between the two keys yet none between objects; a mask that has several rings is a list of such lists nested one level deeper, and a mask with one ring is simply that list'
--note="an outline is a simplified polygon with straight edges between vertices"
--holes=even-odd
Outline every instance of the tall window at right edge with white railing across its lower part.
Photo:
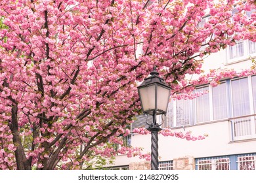
[{"label": "tall window at right edge with white railing across its lower part", "polygon": [[256,136],[255,116],[255,76],[231,80],[233,129],[232,140],[251,139]]}]

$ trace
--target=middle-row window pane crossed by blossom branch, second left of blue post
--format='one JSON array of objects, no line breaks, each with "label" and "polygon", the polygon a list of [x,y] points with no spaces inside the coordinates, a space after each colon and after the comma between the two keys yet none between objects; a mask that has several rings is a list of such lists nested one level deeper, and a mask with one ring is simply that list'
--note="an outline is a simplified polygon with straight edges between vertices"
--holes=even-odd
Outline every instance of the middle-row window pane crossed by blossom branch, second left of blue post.
[{"label": "middle-row window pane crossed by blossom branch, second left of blue post", "polygon": [[[209,90],[209,87],[198,88],[196,92],[203,92],[205,90]],[[196,119],[198,123],[210,120],[209,93],[196,98]]]}]

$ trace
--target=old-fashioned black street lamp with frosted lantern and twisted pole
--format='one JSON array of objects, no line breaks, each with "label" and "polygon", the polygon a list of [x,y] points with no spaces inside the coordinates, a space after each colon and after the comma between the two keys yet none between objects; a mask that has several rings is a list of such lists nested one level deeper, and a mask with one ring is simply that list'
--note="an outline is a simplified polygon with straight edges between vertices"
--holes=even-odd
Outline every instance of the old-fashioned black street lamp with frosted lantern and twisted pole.
[{"label": "old-fashioned black street lamp with frosted lantern and twisted pole", "polygon": [[151,169],[158,170],[158,132],[161,128],[156,123],[156,115],[166,114],[171,88],[158,76],[156,67],[150,75],[138,90],[143,113],[153,116],[153,123],[148,124],[148,131],[151,131]]}]

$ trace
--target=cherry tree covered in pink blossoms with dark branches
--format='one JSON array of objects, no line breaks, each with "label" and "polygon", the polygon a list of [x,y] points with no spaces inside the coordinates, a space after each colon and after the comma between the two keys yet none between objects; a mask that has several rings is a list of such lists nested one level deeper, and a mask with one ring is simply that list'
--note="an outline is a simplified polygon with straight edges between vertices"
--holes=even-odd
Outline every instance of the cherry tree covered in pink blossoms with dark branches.
[{"label": "cherry tree covered in pink blossoms with dark branches", "polygon": [[[256,41],[253,9],[251,0],[1,0],[0,169],[79,169],[114,156],[155,65],[183,96],[209,75],[238,74],[185,79],[202,73],[203,56]],[[143,156],[135,147],[119,153]]]}]

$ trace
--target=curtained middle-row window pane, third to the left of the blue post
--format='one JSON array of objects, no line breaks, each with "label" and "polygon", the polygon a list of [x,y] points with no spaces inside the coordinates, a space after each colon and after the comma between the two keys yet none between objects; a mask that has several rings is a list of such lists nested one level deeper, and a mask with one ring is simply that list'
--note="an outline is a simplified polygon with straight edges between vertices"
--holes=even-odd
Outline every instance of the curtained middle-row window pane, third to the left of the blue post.
[{"label": "curtained middle-row window pane, third to the left of the blue post", "polygon": [[190,100],[177,100],[176,104],[177,126],[190,124]]}]

